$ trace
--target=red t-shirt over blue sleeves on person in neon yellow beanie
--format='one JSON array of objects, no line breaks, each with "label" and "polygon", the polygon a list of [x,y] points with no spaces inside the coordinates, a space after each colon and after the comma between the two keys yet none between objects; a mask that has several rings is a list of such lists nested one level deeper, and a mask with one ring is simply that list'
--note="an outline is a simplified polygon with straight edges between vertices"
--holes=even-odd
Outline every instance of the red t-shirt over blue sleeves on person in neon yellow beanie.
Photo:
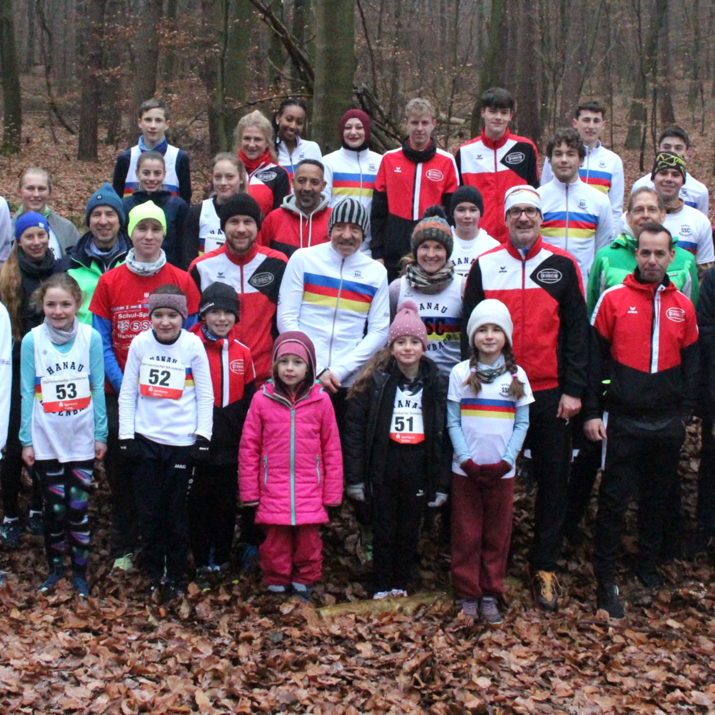
[{"label": "red t-shirt over blue sleeves on person in neon yellow beanie", "polygon": [[119,368],[129,355],[129,345],[140,332],[151,327],[149,295],[160,285],[173,283],[186,294],[189,315],[199,312],[199,291],[189,274],[169,263],[155,275],[140,277],[122,264],[103,273],[94,290],[89,311],[112,321],[112,346]]}]

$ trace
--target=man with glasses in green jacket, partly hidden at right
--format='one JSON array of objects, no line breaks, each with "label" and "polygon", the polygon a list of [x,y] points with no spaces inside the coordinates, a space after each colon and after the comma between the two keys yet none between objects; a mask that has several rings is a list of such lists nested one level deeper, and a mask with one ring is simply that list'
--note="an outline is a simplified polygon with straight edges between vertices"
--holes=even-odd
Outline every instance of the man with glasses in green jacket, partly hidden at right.
[{"label": "man with glasses in green jacket, partly hidden at right", "polygon": [[[591,315],[606,288],[622,283],[629,273],[636,270],[636,246],[642,227],[649,222],[663,223],[665,217],[663,199],[656,194],[655,189],[641,187],[631,194],[626,213],[626,224],[630,231],[616,236],[593,259],[586,288],[588,315]],[[677,237],[673,239],[677,240]],[[693,254],[676,245],[675,258],[668,267],[668,277],[679,291],[690,298],[693,305],[697,304],[700,285]]]}]

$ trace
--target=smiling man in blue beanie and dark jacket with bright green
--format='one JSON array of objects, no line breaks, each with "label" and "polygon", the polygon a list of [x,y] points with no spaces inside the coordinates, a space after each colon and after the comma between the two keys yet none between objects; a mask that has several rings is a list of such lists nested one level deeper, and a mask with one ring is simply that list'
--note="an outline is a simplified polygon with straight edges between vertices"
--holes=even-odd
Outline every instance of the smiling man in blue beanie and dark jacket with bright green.
[{"label": "smiling man in blue beanie and dark jacket with bright green", "polygon": [[85,221],[89,231],[79,239],[69,255],[62,259],[61,270],[71,275],[82,288],[84,302],[77,314],[79,322],[92,325],[89,303],[99,277],[124,263],[132,244],[124,227],[126,217],[122,199],[111,184],[102,184],[89,197]]}]

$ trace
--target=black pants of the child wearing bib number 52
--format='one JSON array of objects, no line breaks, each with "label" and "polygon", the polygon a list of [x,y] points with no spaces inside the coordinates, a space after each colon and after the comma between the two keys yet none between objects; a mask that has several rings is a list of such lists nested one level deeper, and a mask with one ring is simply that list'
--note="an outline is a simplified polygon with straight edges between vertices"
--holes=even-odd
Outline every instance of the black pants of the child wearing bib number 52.
[{"label": "black pants of the child wearing bib number 52", "polygon": [[142,455],[134,472],[144,568],[152,581],[164,575],[179,581],[189,553],[187,501],[192,472],[191,447],[160,445],[137,435]]}]

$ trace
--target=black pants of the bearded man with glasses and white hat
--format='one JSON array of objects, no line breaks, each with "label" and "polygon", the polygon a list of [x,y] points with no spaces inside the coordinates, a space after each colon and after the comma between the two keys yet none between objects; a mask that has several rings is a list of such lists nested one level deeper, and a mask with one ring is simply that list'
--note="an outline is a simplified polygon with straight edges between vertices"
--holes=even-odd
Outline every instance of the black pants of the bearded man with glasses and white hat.
[{"label": "black pants of the bearded man with glasses and white hat", "polygon": [[536,402],[529,406],[526,435],[538,485],[529,563],[534,571],[553,571],[561,556],[571,436],[566,420],[556,417],[559,390],[539,390],[534,398]]}]

